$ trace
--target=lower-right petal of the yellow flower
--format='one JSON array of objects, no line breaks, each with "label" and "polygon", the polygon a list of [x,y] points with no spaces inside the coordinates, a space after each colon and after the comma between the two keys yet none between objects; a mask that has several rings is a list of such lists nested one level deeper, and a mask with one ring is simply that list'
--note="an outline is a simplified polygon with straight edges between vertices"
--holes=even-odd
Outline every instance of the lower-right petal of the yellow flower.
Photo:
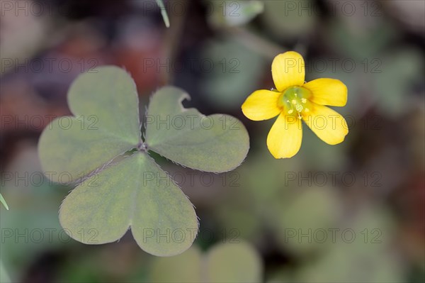
[{"label": "lower-right petal of the yellow flower", "polygon": [[327,106],[311,104],[308,113],[302,119],[312,131],[325,143],[341,143],[348,133],[347,122],[341,114]]}]

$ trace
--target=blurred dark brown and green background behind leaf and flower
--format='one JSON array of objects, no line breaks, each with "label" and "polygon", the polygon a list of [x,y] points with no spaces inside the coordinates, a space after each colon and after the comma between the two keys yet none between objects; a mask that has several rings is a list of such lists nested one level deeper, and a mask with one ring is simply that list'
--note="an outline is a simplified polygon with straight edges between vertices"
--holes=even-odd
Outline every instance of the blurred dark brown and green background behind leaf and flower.
[{"label": "blurred dark brown and green background behind leaf and flower", "polygon": [[[425,279],[424,1],[164,1],[169,28],[155,1],[0,4],[1,282]],[[274,119],[250,121],[240,106],[274,87],[271,61],[287,50],[305,57],[307,81],[347,85],[336,111],[350,131],[331,146],[305,126],[300,152],[275,160]],[[130,233],[84,245],[60,227],[72,187],[42,177],[38,138],[69,115],[69,84],[101,65],[131,73],[142,110],[171,84],[191,94],[186,106],[229,113],[249,131],[234,172],[158,157],[200,218],[182,255],[149,255]]]}]

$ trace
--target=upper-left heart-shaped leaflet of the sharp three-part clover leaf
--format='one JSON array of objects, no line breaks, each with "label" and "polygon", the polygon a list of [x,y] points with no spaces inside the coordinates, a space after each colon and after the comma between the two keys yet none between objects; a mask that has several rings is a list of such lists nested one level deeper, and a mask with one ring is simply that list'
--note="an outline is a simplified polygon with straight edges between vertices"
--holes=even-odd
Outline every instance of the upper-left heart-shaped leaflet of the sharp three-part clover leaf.
[{"label": "upper-left heart-shaped leaflet of the sharp three-part clover leaf", "polygon": [[139,102],[130,75],[113,66],[92,72],[69,89],[74,116],[53,120],[40,137],[40,162],[54,182],[76,182],[140,143]]}]

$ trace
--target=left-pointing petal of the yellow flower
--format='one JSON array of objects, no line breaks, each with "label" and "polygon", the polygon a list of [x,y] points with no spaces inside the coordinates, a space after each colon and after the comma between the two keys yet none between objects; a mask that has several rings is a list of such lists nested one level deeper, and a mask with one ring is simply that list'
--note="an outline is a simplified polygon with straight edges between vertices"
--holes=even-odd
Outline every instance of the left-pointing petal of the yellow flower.
[{"label": "left-pointing petal of the yellow flower", "polygon": [[278,108],[279,92],[260,89],[254,91],[242,104],[244,115],[254,121],[273,118],[280,113]]}]

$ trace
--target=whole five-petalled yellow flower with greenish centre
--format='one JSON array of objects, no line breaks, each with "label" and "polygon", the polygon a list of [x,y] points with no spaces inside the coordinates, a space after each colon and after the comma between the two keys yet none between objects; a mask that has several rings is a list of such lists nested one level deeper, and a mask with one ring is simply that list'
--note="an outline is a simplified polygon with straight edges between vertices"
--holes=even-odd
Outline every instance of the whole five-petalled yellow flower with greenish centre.
[{"label": "whole five-petalled yellow flower with greenish centre", "polygon": [[305,63],[297,52],[277,55],[271,64],[276,89],[254,91],[242,112],[254,121],[278,116],[267,137],[275,158],[293,157],[301,147],[304,121],[325,143],[341,143],[348,133],[343,116],[327,106],[345,106],[347,87],[339,79],[305,82]]}]

